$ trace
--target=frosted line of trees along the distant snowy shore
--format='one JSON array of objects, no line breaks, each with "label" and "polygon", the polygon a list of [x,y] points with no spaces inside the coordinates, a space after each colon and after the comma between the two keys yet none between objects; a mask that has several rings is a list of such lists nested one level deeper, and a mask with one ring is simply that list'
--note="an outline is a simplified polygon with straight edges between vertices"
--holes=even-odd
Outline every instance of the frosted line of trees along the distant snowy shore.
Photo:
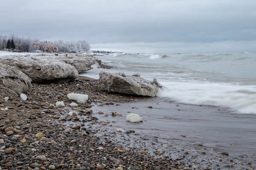
[{"label": "frosted line of trees along the distant snowy shore", "polygon": [[16,37],[11,35],[0,35],[0,50],[3,51],[22,51],[36,52],[42,51],[47,53],[87,53],[90,51],[90,44],[84,40],[79,41],[63,41],[55,42],[41,41],[38,38]]}]

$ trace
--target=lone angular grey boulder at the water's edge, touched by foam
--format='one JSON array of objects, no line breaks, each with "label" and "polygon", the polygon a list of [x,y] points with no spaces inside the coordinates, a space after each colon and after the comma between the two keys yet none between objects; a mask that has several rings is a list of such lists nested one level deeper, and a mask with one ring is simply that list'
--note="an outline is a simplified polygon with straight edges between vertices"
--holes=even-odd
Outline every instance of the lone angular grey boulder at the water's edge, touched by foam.
[{"label": "lone angular grey boulder at the water's edge, touched by foam", "polygon": [[108,91],[139,96],[154,97],[157,95],[159,88],[162,88],[162,85],[156,79],[153,82],[149,82],[141,78],[140,74],[130,76],[125,73],[101,71],[99,72],[99,81],[105,85]]}]

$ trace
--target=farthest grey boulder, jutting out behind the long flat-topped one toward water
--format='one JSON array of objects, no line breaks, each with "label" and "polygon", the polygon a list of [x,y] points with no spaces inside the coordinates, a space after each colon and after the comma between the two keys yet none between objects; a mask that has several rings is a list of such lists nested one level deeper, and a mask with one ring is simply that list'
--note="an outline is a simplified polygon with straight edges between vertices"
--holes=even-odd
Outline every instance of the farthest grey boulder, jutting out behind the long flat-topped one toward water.
[{"label": "farthest grey boulder, jutting out behind the long flat-topped one toward water", "polygon": [[74,58],[74,59],[61,59],[61,61],[73,65],[78,73],[92,69],[91,65],[95,64],[95,59],[91,57]]}]

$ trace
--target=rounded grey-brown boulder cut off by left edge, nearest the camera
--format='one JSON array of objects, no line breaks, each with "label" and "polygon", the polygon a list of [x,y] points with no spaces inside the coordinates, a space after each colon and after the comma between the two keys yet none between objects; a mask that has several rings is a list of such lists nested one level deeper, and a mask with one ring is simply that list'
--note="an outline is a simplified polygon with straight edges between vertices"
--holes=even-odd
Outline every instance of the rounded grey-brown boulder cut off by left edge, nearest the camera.
[{"label": "rounded grey-brown boulder cut off by left edge, nearest the camera", "polygon": [[31,79],[26,74],[16,67],[0,63],[0,98],[16,98],[22,93],[30,92],[31,88]]}]

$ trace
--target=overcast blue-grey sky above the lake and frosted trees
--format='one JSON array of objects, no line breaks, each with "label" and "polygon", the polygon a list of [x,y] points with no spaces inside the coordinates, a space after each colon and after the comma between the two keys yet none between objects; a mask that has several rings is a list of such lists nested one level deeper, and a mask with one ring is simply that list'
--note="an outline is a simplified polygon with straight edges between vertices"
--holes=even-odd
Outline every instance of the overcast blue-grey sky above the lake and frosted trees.
[{"label": "overcast blue-grey sky above the lake and frosted trees", "polygon": [[0,34],[130,53],[256,52],[256,0],[0,0]]}]

